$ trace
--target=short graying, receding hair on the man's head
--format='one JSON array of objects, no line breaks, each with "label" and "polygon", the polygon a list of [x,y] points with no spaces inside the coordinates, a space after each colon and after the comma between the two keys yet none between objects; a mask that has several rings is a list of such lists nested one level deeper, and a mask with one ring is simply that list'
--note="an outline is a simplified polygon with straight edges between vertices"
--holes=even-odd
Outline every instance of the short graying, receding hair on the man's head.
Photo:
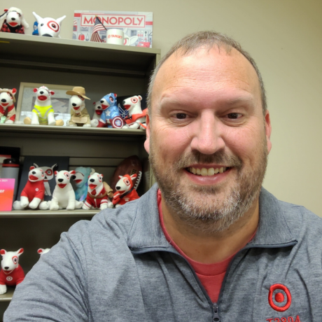
[{"label": "short graying, receding hair on the man's head", "polygon": [[226,52],[230,52],[232,48],[238,50],[241,55],[244,55],[248,62],[250,62],[255,69],[258,80],[260,82],[260,90],[262,96],[262,113],[265,115],[265,111],[267,109],[266,95],[265,95],[265,87],[262,81],[262,76],[260,75],[260,71],[258,70],[258,66],[255,64],[254,59],[251,55],[248,54],[244,49],[241,48],[241,45],[235,41],[234,39],[226,36],[225,34],[218,33],[216,31],[199,31],[194,34],[189,34],[186,37],[183,37],[177,43],[175,43],[172,48],[167,52],[167,54],[162,57],[158,66],[155,67],[153,74],[150,79],[150,83],[148,85],[148,111],[151,113],[151,98],[152,98],[152,90],[153,84],[155,81],[155,76],[157,75],[162,64],[174,53],[180,50],[181,55],[188,55],[190,52],[200,48],[206,47],[213,48],[214,46],[218,46],[218,48],[224,48]]}]

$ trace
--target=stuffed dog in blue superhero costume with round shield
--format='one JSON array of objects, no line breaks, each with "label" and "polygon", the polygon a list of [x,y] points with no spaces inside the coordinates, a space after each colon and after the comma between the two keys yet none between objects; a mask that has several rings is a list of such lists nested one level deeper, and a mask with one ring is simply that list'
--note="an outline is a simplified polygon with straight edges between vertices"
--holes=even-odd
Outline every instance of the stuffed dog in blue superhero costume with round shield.
[{"label": "stuffed dog in blue superhero costume with round shield", "polygon": [[100,101],[102,104],[103,113],[99,119],[97,127],[114,127],[122,129],[124,125],[123,119],[118,111],[117,94],[106,94]]}]

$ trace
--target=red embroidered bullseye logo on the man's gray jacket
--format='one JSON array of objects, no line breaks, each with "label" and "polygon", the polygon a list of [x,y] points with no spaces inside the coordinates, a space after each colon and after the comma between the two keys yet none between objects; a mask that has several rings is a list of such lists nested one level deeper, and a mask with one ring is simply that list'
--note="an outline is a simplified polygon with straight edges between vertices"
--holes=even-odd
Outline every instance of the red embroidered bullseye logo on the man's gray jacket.
[{"label": "red embroidered bullseye logo on the man's gray jacket", "polygon": [[292,302],[290,291],[282,284],[274,284],[269,288],[268,302],[275,311],[286,311]]}]

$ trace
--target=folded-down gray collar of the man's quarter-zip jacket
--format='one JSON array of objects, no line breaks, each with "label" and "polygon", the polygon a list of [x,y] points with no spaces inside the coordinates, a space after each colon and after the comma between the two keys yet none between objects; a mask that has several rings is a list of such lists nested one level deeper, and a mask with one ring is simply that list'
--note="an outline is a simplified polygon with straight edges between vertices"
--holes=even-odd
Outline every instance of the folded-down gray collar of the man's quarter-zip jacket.
[{"label": "folded-down gray collar of the man's quarter-zip jacket", "polygon": [[[137,202],[137,214],[128,235],[128,246],[135,253],[174,251],[160,225],[157,192],[158,185],[155,183]],[[246,247],[278,248],[296,244],[279,200],[262,188],[259,202],[258,230]]]}]

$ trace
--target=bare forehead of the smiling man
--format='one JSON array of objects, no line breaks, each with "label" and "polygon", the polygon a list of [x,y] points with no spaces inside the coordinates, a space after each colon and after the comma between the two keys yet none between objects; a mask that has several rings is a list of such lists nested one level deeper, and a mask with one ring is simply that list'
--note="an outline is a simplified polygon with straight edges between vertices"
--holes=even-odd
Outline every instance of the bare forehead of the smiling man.
[{"label": "bare forehead of the smiling man", "polygon": [[194,78],[208,82],[239,83],[245,90],[260,95],[257,73],[248,59],[231,48],[197,48],[191,52],[174,52],[160,67],[153,85],[153,95],[174,84],[194,83]]}]

